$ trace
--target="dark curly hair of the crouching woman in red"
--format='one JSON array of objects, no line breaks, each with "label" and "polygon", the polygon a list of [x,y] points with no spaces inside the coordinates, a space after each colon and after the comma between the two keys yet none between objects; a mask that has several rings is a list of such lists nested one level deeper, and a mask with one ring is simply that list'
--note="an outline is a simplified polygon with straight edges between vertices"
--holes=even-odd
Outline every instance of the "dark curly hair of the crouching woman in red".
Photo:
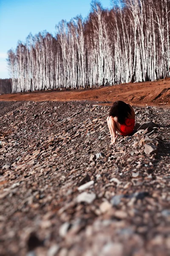
[{"label": "dark curly hair of the crouching woman in red", "polygon": [[118,100],[113,103],[109,116],[117,116],[118,122],[123,125],[125,124],[125,119],[131,114],[132,110],[128,104]]}]

